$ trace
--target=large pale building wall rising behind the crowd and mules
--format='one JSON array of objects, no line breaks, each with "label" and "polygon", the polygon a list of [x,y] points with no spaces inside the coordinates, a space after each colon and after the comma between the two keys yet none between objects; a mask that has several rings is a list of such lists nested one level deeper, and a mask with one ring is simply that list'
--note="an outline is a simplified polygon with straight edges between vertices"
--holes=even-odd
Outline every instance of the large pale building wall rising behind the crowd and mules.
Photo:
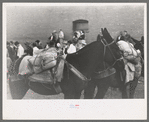
[{"label": "large pale building wall rising behind the crowd and mules", "polygon": [[7,41],[46,43],[53,30],[62,29],[71,40],[76,29],[84,29],[87,43],[95,41],[106,27],[115,38],[127,30],[137,40],[144,35],[144,5],[102,6],[8,6],[6,8]]}]

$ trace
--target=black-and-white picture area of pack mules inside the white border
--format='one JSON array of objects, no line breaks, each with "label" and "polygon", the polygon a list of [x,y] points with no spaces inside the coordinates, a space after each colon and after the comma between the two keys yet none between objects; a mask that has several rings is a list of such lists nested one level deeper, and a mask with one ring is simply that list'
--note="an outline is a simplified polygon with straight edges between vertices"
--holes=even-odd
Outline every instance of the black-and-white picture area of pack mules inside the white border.
[{"label": "black-and-white picture area of pack mules inside the white border", "polygon": [[145,4],[3,4],[7,99],[144,99]]}]

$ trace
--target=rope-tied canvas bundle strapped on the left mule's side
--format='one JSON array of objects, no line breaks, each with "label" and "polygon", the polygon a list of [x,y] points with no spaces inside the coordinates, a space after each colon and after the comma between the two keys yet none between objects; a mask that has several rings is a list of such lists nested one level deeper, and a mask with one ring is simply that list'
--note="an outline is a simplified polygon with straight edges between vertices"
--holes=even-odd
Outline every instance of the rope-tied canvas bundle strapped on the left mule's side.
[{"label": "rope-tied canvas bundle strapped on the left mule's side", "polygon": [[57,50],[55,48],[42,50],[36,56],[28,59],[34,74],[28,77],[32,82],[54,83],[53,70],[57,65]]}]

